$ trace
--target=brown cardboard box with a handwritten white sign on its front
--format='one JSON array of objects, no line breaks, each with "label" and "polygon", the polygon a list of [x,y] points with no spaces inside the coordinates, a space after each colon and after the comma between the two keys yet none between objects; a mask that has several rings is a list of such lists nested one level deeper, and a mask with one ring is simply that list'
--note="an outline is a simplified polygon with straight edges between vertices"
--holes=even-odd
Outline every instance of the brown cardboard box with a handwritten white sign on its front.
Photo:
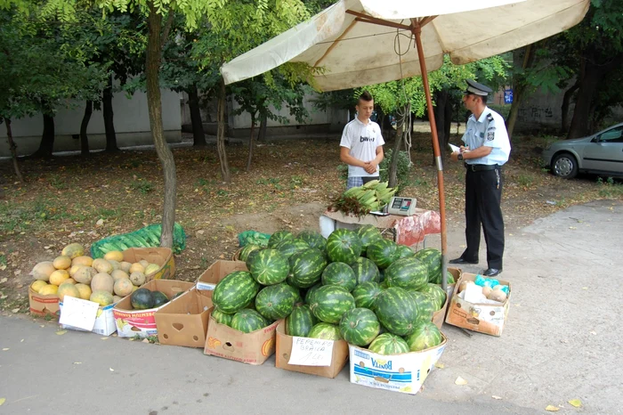
[{"label": "brown cardboard box with a handwritten white sign on its front", "polygon": [[277,326],[275,367],[322,376],[324,378],[335,378],[342,368],[344,368],[348,360],[348,343],[344,340],[337,340],[333,342],[333,356],[330,366],[300,366],[297,364],[288,364],[290,353],[292,352],[292,339],[292,336],[286,334],[286,323],[281,322]]}]

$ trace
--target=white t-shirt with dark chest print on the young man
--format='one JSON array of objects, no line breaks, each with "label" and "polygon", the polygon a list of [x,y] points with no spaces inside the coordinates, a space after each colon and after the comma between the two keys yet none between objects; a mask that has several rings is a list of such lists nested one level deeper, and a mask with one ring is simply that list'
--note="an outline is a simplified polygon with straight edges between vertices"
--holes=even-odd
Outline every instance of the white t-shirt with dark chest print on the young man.
[{"label": "white t-shirt with dark chest print on the young man", "polygon": [[[355,159],[370,161],[376,159],[376,147],[384,143],[381,127],[376,122],[368,120],[368,124],[363,124],[359,118],[355,118],[344,126],[340,147],[350,149],[348,153]],[[363,167],[348,166],[349,177],[376,175],[378,175],[378,166],[376,166],[376,173],[372,175],[368,174]]]}]

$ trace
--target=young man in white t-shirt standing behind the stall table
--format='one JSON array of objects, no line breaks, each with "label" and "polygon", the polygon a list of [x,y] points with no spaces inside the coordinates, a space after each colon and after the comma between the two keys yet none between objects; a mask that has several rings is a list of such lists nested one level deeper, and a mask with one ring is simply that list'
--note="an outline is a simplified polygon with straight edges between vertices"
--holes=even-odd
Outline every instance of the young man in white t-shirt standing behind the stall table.
[{"label": "young man in white t-shirt standing behind the stall table", "polygon": [[348,165],[347,189],[378,179],[385,143],[381,127],[370,120],[374,100],[368,91],[360,95],[355,108],[357,117],[344,126],[340,142],[340,160]]}]

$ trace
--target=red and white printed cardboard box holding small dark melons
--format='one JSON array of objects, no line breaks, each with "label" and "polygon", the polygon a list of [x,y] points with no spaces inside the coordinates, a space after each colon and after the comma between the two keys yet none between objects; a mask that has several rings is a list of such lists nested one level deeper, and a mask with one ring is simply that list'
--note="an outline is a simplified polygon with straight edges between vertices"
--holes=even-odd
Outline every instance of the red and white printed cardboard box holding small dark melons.
[{"label": "red and white printed cardboard box holding small dark melons", "polygon": [[[191,289],[194,286],[192,282],[175,281],[175,280],[152,280],[142,287],[150,289],[150,291],[162,291],[166,297],[172,298],[177,293]],[[115,324],[117,324],[117,334],[120,338],[147,338],[156,336],[158,329],[156,328],[156,319],[154,314],[165,305],[148,310],[133,310],[131,295],[119,301],[112,309],[115,316]],[[176,301],[175,298],[172,301]]]}]

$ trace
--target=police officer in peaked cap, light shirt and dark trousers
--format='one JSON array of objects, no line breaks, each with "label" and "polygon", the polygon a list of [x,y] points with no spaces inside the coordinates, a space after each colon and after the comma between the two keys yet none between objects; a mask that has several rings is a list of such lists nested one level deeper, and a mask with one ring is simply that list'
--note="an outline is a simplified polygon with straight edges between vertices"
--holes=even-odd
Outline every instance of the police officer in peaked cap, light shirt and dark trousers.
[{"label": "police officer in peaked cap, light shirt and dark trousers", "polygon": [[511,143],[504,118],[487,107],[491,88],[473,80],[467,80],[463,96],[465,109],[472,115],[467,120],[460,151],[451,159],[465,163],[465,240],[467,248],[463,255],[449,261],[450,264],[478,264],[481,243],[481,225],[487,243],[488,269],[482,273],[493,277],[502,272],[504,255],[504,219],[501,167],[508,160]]}]

